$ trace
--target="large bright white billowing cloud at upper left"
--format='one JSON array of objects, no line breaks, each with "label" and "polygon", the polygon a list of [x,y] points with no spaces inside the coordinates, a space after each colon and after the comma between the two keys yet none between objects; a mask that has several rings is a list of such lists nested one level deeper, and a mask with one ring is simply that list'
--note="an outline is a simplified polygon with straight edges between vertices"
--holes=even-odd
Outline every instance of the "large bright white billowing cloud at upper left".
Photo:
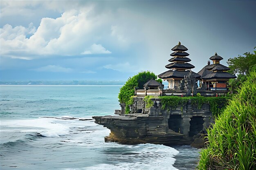
[{"label": "large bright white billowing cloud at upper left", "polygon": [[97,43],[101,39],[100,30],[106,18],[91,16],[92,9],[93,7],[87,7],[66,11],[56,19],[42,18],[37,29],[32,23],[28,27],[14,28],[6,24],[0,30],[0,54],[12,58],[34,59],[53,55],[111,53],[102,43]]}]

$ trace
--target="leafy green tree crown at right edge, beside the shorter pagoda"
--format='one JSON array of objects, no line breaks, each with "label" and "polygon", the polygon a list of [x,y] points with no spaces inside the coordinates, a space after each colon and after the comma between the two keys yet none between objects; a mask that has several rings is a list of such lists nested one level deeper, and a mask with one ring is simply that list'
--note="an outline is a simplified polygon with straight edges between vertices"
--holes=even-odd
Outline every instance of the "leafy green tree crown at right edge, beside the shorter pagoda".
[{"label": "leafy green tree crown at right edge, beside the shorter pagoda", "polygon": [[[255,49],[256,47],[254,47]],[[244,53],[241,56],[229,58],[227,64],[229,65],[229,73],[232,74],[244,74],[246,75],[250,68],[256,65],[256,51],[254,53]]]}]

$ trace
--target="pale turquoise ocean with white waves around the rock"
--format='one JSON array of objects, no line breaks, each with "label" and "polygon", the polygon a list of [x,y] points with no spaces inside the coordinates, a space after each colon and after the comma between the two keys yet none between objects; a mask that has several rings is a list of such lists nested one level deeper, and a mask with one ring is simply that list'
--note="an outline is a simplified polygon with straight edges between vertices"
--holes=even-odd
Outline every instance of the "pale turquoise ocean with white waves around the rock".
[{"label": "pale turquoise ocean with white waves around the rock", "polygon": [[120,88],[1,85],[0,169],[193,170],[190,146],[104,142],[110,130],[90,119],[120,109]]}]

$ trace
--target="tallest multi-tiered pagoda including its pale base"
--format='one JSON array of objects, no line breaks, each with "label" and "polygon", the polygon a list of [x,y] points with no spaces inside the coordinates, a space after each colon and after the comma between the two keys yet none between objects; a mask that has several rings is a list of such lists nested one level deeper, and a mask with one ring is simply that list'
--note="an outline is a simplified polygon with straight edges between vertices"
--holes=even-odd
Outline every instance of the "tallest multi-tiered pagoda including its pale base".
[{"label": "tallest multi-tiered pagoda including its pale base", "polygon": [[187,57],[189,56],[189,53],[185,52],[188,49],[184,45],[181,45],[179,42],[179,44],[171,50],[174,51],[170,54],[172,58],[168,60],[171,63],[165,66],[170,70],[159,74],[158,77],[168,82],[168,89],[183,89],[182,80],[185,76],[190,73],[193,77],[199,79],[201,75],[191,71],[191,68],[195,68],[195,66],[188,63],[191,60]]}]

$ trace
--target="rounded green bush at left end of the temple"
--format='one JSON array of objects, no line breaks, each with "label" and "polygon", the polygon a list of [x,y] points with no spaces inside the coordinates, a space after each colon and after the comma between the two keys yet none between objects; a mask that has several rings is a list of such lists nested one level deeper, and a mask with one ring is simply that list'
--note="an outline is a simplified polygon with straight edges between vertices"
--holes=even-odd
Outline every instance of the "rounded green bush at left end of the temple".
[{"label": "rounded green bush at left end of the temple", "polygon": [[[127,82],[120,88],[120,93],[118,94],[119,102],[126,104],[126,113],[129,113],[129,104],[132,104],[132,96],[135,94],[135,87],[143,89],[143,85],[150,79],[157,79],[157,75],[150,71],[143,71],[137,75],[130,77]],[[157,79],[160,82],[160,79]],[[162,81],[162,79],[161,79]]]}]

